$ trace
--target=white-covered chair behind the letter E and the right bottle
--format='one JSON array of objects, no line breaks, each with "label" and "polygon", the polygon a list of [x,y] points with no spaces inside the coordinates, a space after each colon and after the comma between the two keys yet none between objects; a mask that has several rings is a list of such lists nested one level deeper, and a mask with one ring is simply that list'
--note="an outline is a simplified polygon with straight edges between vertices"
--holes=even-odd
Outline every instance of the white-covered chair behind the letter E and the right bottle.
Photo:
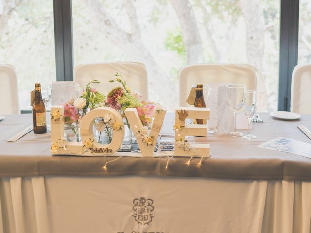
[{"label": "white-covered chair behind the letter E and the right bottle", "polygon": [[203,84],[238,83],[246,85],[247,90],[256,90],[257,80],[254,67],[248,64],[195,64],[183,67],[178,72],[179,104],[187,106],[191,86]]}]

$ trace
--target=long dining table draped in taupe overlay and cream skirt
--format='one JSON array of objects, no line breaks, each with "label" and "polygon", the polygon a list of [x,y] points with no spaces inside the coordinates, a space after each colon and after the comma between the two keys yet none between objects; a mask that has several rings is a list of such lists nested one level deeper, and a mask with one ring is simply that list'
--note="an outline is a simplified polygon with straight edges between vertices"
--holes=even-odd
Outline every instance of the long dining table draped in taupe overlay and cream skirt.
[{"label": "long dining table draped in taupe overlay and cream skirt", "polygon": [[[49,131],[8,142],[32,115],[6,115],[0,233],[310,233],[311,159],[258,146],[277,137],[311,143],[297,128],[311,129],[311,115],[259,116],[256,139],[193,137],[211,156],[190,159],[52,155]],[[161,140],[174,139],[173,124],[167,113]]]}]

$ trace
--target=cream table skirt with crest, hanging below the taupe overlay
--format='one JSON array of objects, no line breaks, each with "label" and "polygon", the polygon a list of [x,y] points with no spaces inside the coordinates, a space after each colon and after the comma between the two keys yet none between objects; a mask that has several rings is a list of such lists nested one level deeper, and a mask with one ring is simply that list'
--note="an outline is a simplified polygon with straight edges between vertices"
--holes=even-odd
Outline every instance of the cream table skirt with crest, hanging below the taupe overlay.
[{"label": "cream table skirt with crest, hanging below the taupe overlay", "polygon": [[[153,200],[140,225],[133,200]],[[1,178],[0,233],[309,233],[311,182]]]}]

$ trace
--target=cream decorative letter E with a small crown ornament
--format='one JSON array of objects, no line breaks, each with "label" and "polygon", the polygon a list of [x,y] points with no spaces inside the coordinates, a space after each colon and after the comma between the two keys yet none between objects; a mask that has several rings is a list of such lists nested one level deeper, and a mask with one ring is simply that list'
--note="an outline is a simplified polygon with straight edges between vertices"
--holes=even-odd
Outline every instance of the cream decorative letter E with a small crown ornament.
[{"label": "cream decorative letter E with a small crown ornament", "polygon": [[175,155],[209,157],[209,144],[189,143],[185,136],[207,136],[207,125],[185,125],[186,119],[209,119],[209,108],[185,107],[175,112]]}]

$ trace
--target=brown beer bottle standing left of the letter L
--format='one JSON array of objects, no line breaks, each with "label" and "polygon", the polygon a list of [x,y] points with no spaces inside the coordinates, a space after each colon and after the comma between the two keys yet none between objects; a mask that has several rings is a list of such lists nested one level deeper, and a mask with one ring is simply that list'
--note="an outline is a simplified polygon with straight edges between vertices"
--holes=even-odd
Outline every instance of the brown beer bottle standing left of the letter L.
[{"label": "brown beer bottle standing left of the letter L", "polygon": [[47,133],[45,105],[41,95],[41,84],[35,83],[35,100],[33,102],[34,133]]}]

